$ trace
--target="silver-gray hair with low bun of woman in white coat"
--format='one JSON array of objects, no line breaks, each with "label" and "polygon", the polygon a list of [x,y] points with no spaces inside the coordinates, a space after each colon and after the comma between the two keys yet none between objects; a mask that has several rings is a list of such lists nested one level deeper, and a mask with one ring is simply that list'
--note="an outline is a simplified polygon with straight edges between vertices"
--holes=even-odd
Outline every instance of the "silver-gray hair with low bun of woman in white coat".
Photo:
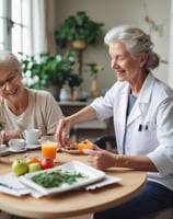
[{"label": "silver-gray hair with low bun of woman in white coat", "polygon": [[114,42],[124,43],[134,58],[140,57],[142,53],[148,54],[148,60],[145,68],[152,70],[160,64],[160,57],[153,51],[153,43],[148,34],[142,30],[131,25],[120,25],[109,30],[105,37],[104,43],[109,45]]}]

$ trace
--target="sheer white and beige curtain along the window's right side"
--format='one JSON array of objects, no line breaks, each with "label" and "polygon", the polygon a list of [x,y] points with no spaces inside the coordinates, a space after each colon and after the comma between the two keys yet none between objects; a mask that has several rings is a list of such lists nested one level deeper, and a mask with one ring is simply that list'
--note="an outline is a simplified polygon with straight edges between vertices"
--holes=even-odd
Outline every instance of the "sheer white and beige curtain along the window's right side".
[{"label": "sheer white and beige curtain along the window's right side", "polygon": [[33,0],[33,54],[54,53],[55,0]]}]

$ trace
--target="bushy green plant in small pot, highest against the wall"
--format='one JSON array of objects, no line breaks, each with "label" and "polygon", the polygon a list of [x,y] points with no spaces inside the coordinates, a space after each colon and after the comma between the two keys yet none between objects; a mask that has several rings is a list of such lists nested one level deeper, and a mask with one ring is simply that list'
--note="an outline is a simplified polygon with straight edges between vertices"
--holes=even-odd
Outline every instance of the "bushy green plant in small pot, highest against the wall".
[{"label": "bushy green plant in small pot, highest against the wall", "polygon": [[[68,43],[73,42],[77,49],[83,49],[86,45],[93,45],[102,36],[102,26],[104,23],[92,21],[84,11],[79,11],[76,15],[70,15],[55,32],[56,42],[65,48]],[[80,47],[76,41],[82,41]],[[84,43],[83,43],[84,41]]]}]

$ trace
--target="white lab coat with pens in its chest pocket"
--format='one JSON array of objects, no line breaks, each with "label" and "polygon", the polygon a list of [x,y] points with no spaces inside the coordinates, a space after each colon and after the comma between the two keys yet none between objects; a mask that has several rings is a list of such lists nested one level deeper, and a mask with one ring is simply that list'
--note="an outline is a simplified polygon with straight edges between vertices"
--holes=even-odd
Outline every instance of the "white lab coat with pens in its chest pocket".
[{"label": "white lab coat with pens in its chest pocket", "polygon": [[158,168],[148,180],[173,189],[173,91],[149,73],[126,122],[128,82],[116,82],[91,106],[97,118],[114,117],[118,152],[146,154]]}]

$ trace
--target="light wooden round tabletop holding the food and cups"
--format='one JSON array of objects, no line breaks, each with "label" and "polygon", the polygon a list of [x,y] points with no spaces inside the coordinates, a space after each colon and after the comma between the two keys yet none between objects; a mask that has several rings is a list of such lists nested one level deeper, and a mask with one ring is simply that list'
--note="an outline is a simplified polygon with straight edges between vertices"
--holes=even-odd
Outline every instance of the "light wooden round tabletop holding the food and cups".
[{"label": "light wooden round tabletop holding the food and cups", "polygon": [[[41,151],[30,151],[35,153]],[[11,171],[11,159],[23,158],[24,154],[11,154],[3,157],[0,163],[0,174]],[[69,154],[59,152],[57,164],[64,164],[71,160],[86,163],[84,154]],[[141,171],[129,169],[112,169],[106,174],[122,177],[119,183],[115,183],[94,191],[70,191],[54,196],[35,199],[32,196],[14,197],[0,194],[0,209],[11,215],[28,218],[65,218],[101,211],[118,204],[122,204],[136,194],[145,186],[147,174]]]}]

